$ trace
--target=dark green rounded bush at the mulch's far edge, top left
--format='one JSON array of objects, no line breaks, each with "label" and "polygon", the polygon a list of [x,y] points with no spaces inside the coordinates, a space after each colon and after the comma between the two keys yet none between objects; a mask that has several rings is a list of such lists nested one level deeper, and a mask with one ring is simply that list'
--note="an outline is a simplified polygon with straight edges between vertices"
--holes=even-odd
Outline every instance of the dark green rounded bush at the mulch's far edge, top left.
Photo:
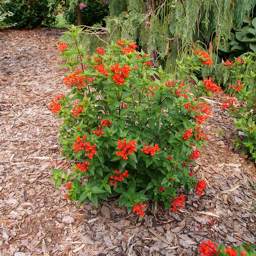
[{"label": "dark green rounded bush at the mulch's far edge, top left", "polygon": [[5,3],[3,6],[7,12],[13,15],[4,20],[7,24],[15,24],[18,28],[34,28],[44,25],[53,25],[55,17],[49,11],[47,0],[15,0]]}]

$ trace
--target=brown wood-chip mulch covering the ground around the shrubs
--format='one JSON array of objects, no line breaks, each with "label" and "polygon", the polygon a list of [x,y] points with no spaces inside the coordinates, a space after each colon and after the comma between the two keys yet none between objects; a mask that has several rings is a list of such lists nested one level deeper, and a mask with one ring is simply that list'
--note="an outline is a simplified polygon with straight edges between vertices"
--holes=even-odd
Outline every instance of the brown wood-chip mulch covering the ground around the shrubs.
[{"label": "brown wood-chip mulch covering the ground around the shrubs", "polygon": [[69,167],[58,159],[60,123],[47,108],[68,91],[59,36],[49,28],[0,32],[0,255],[198,255],[206,238],[255,243],[255,167],[232,151],[237,132],[219,108],[224,93],[209,102],[209,147],[192,167],[207,189],[178,213],[149,204],[139,219],[116,201],[78,208],[63,198],[64,186],[54,191],[50,167]]}]

